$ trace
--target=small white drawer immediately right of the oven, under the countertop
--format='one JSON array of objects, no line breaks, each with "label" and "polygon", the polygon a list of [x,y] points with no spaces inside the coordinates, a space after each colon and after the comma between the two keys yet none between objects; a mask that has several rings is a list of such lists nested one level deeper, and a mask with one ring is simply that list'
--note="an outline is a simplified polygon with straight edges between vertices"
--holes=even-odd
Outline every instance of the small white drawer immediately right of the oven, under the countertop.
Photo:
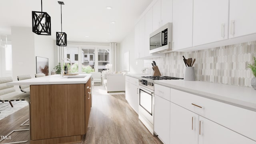
[{"label": "small white drawer immediately right of the oven, under the countertop", "polygon": [[166,86],[161,86],[159,84],[155,84],[154,94],[170,101],[170,90],[171,88],[168,88]]}]

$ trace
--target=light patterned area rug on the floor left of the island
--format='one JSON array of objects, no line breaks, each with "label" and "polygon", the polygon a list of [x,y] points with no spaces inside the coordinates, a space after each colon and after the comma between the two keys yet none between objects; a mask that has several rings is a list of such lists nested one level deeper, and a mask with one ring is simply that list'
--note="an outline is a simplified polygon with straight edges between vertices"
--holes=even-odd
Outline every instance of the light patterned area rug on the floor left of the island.
[{"label": "light patterned area rug on the floor left of the island", "polygon": [[5,118],[6,116],[9,116],[10,114],[13,114],[14,112],[24,108],[25,106],[28,106],[28,102],[26,101],[14,101],[12,102],[13,108],[10,105],[9,102],[0,102],[0,120]]}]

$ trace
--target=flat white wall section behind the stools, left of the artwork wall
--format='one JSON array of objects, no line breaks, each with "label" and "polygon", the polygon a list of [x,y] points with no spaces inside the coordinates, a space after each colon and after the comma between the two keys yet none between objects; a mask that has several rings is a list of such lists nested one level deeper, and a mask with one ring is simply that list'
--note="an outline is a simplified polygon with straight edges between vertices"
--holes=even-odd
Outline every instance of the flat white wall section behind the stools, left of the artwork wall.
[{"label": "flat white wall section behind the stools, left of the artwork wall", "polygon": [[36,74],[34,33],[32,28],[12,27],[12,78]]}]

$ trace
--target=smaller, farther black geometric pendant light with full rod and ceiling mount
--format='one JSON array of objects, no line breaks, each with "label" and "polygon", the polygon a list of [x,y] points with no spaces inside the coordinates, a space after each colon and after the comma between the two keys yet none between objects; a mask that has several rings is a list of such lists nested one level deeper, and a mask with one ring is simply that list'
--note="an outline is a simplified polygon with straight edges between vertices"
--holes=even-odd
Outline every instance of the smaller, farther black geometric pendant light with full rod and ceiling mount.
[{"label": "smaller, farther black geometric pendant light with full rod and ceiling mount", "polygon": [[67,46],[67,34],[62,32],[62,4],[64,2],[58,2],[60,4],[60,18],[61,18],[61,32],[56,32],[56,44],[58,46]]}]

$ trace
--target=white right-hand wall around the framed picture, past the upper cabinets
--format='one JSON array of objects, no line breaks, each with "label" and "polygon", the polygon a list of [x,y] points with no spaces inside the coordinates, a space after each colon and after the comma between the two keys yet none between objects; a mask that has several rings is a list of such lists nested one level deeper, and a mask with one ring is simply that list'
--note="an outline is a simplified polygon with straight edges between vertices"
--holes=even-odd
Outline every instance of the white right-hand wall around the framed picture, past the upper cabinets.
[{"label": "white right-hand wall around the framed picture, past the upper cabinets", "polygon": [[142,73],[141,70],[144,67],[144,60],[135,59],[137,54],[134,52],[134,28],[120,43],[120,63],[117,71],[124,71],[124,63],[127,62],[127,60],[124,60],[124,53],[127,51],[130,53],[130,71],[128,71],[128,73]]}]

